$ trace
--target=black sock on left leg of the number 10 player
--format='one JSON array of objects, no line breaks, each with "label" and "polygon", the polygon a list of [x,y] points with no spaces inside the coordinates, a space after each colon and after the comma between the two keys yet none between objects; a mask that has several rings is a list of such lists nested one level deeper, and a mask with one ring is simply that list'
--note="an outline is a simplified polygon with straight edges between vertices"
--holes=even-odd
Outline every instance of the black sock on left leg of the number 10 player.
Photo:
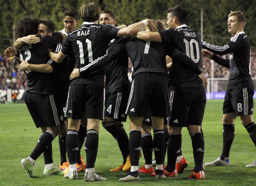
[{"label": "black sock on left leg of the number 10 player", "polygon": [[169,142],[168,142],[168,150],[167,150],[167,165],[165,169],[168,172],[173,172],[176,168],[176,159],[177,155],[181,150],[181,133],[172,134],[169,133]]}]

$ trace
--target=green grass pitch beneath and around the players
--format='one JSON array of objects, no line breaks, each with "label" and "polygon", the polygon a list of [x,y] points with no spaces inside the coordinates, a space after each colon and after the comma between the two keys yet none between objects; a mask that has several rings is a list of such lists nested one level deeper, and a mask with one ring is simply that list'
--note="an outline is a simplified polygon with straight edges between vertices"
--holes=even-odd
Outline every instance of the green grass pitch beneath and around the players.
[{"label": "green grass pitch beneath and around the players", "polygon": [[[223,100],[207,100],[202,129],[205,140],[204,162],[215,160],[222,150],[222,102]],[[254,100],[255,102],[255,100]],[[256,119],[256,114],[254,114]],[[128,121],[129,122],[129,121]],[[129,132],[129,124],[124,124]],[[22,158],[28,157],[40,137],[40,129],[36,129],[25,104],[0,105],[0,186],[45,186],[45,185],[207,185],[207,186],[235,186],[256,185],[256,167],[245,168],[246,164],[256,159],[255,145],[252,143],[247,131],[242,126],[239,118],[235,122],[235,139],[230,152],[229,167],[205,167],[206,180],[192,180],[187,176],[191,174],[194,166],[191,139],[186,128],[182,132],[182,152],[189,166],[177,178],[166,178],[156,181],[154,177],[140,174],[141,182],[120,183],[118,179],[124,177],[126,172],[110,173],[109,169],[122,163],[122,156],[116,140],[100,127],[99,149],[95,164],[96,171],[107,178],[106,181],[85,182],[83,173],[78,174],[78,180],[64,179],[62,175],[43,175],[44,159],[41,155],[35,164],[36,177],[26,175],[20,165]],[[81,150],[85,157],[85,152]],[[53,142],[53,158],[55,165],[59,165],[59,143]],[[140,166],[144,163],[140,158]]]}]

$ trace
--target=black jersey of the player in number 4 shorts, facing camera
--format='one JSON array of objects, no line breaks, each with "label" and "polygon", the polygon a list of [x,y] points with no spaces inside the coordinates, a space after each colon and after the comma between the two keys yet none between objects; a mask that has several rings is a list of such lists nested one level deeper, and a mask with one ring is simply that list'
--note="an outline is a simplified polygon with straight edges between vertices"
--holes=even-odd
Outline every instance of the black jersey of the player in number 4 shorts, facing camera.
[{"label": "black jersey of the player in number 4 shorts, facing camera", "polygon": [[[114,45],[118,41],[122,40],[123,37],[112,39],[108,47]],[[104,74],[106,76],[105,93],[110,92],[122,92],[130,91],[131,83],[128,78],[128,55],[126,52],[118,56],[117,59],[112,61],[107,66],[103,67]]]}]

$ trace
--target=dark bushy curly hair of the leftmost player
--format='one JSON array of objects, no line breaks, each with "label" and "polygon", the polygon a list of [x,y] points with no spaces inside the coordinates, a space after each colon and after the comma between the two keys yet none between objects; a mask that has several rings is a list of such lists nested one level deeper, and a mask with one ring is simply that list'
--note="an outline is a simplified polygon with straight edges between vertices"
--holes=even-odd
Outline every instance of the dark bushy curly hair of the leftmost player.
[{"label": "dark bushy curly hair of the leftmost player", "polygon": [[37,28],[41,18],[24,16],[17,21],[14,29],[14,39],[24,37],[27,35],[37,34]]}]

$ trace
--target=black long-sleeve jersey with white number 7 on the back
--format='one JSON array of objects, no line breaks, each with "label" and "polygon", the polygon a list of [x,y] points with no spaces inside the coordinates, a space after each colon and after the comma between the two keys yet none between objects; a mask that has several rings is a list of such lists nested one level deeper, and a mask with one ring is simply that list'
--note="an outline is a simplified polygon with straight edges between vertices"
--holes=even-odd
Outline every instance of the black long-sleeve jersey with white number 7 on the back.
[{"label": "black long-sleeve jersey with white number 7 on the back", "polygon": [[81,75],[87,74],[91,70],[101,68],[112,62],[122,51],[125,51],[133,63],[132,78],[141,72],[162,73],[168,76],[166,69],[166,55],[168,54],[173,59],[179,61],[183,59],[184,65],[193,69],[197,74],[202,71],[195,65],[195,63],[183,52],[177,49],[171,49],[166,45],[158,42],[142,41],[133,37],[122,39],[117,44],[108,49],[108,53],[99,57],[92,63],[79,69]]}]

